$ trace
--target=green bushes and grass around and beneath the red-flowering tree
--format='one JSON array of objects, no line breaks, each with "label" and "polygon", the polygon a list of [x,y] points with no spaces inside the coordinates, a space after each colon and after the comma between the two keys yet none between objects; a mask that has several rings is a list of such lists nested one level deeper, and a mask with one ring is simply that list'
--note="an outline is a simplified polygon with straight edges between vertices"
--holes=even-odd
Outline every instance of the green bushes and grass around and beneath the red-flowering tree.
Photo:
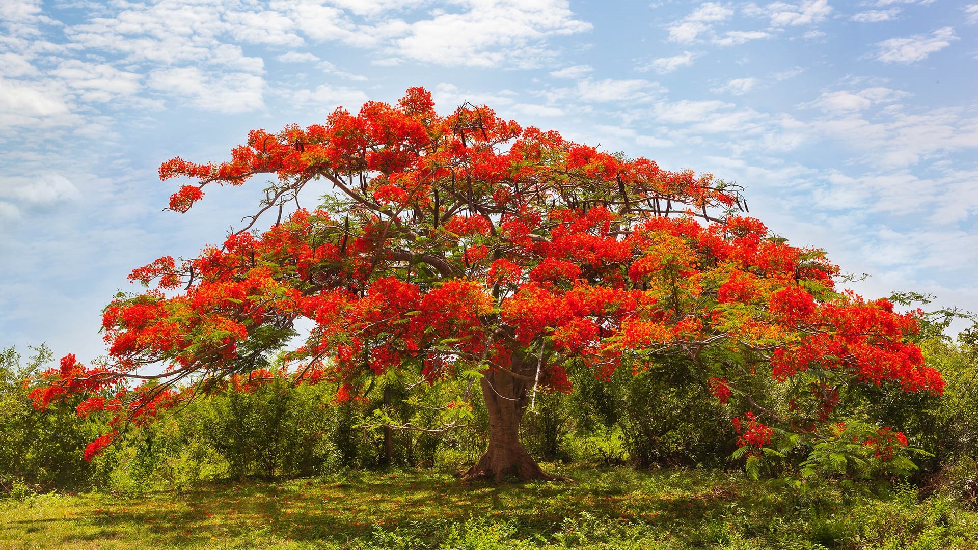
[{"label": "green bushes and grass around and beneath the red-flowering tree", "polygon": [[[921,343],[943,395],[869,388],[844,403],[843,436],[791,446],[780,435],[758,480],[736,452],[733,411],[698,398],[708,389],[682,369],[602,382],[571,372],[576,391],[540,393],[521,428],[565,480],[502,484],[458,477],[485,445],[478,394],[462,407],[463,383],[409,393],[384,377],[340,405],[330,384],[239,380],[127,430],[89,463],[85,445],[108,416],[80,418],[72,401],[34,409],[21,381],[50,353],[22,362],[8,348],[0,550],[978,549],[974,336]],[[446,411],[459,428],[438,432]],[[383,428],[409,424],[428,432]],[[850,442],[884,426],[912,452],[882,460]]]}]

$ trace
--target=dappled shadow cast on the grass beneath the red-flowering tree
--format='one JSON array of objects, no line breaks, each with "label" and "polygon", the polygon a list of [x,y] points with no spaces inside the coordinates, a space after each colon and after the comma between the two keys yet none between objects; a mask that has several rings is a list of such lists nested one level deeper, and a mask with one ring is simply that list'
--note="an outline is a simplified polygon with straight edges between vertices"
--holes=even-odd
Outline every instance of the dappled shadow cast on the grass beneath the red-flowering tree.
[{"label": "dappled shadow cast on the grass beneath the red-flowering tree", "polygon": [[734,498],[723,487],[653,494],[641,482],[600,476],[579,483],[497,485],[462,484],[454,476],[429,472],[352,472],[282,483],[215,482],[138,499],[99,497],[72,519],[22,524],[73,522],[82,528],[66,542],[104,537],[141,547],[192,548],[233,539],[250,544],[264,537],[342,546],[369,538],[377,528],[410,531],[436,546],[453,524],[471,518],[505,522],[518,536],[549,538],[582,511],[622,528],[645,523],[694,536],[697,524],[723,513],[719,502]]}]

